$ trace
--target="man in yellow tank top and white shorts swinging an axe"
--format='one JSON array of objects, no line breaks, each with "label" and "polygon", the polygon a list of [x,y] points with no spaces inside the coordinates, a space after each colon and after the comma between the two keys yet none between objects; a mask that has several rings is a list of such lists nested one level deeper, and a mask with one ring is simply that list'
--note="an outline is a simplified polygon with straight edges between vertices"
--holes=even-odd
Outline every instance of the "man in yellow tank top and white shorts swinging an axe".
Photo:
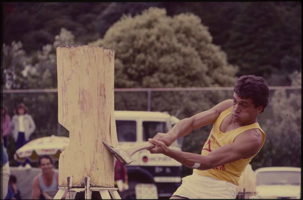
[{"label": "man in yellow tank top and white shorts swinging an axe", "polygon": [[[235,82],[232,99],[182,119],[166,134],[150,138],[148,141],[155,144],[149,149],[151,153],[162,153],[194,169],[171,198],[236,198],[241,174],[264,144],[265,133],[257,116],[268,103],[264,78],[241,76]],[[201,155],[168,148],[177,138],[211,123]]]}]

